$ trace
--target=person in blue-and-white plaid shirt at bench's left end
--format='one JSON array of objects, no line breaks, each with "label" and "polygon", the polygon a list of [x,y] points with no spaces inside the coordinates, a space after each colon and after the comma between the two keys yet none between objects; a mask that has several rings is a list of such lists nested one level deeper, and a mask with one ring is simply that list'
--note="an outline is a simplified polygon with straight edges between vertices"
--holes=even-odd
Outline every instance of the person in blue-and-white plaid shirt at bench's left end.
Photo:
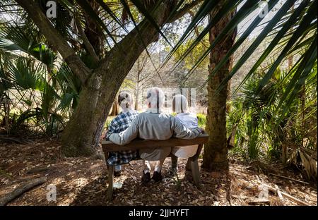
[{"label": "person in blue-and-white plaid shirt at bench's left end", "polygon": [[[116,118],[112,120],[110,126],[107,130],[105,139],[110,140],[110,135],[114,133],[120,133],[126,128],[128,128],[134,118],[139,114],[138,111],[131,109],[133,104],[132,96],[127,91],[119,92],[118,96],[118,104],[122,109],[122,112],[119,113]],[[136,150],[125,150],[121,152],[110,152],[109,157],[107,159],[107,163],[114,166],[114,175],[120,176],[122,171],[121,164],[128,164],[131,160],[136,159],[137,151]]]}]

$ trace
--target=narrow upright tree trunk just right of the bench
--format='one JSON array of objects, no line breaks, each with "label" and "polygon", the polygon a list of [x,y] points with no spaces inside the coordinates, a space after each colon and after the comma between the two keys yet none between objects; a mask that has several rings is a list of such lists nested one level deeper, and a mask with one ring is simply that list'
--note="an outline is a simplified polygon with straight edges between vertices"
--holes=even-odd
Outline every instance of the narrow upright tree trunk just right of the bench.
[{"label": "narrow upright tree trunk just right of the bench", "polygon": [[[221,2],[220,2],[221,5]],[[216,9],[217,11],[217,9]],[[213,18],[211,12],[210,17]],[[225,25],[228,24],[235,12],[225,16],[220,22],[210,30],[210,42],[220,34]],[[209,73],[225,56],[234,43],[235,32],[225,37],[210,54]],[[208,114],[206,131],[208,132],[208,143],[204,146],[204,159],[202,167],[208,171],[228,169],[228,147],[226,137],[226,101],[228,97],[228,85],[225,85],[220,92],[216,92],[218,86],[228,76],[232,61],[229,60],[220,68],[215,75],[208,79]]]}]

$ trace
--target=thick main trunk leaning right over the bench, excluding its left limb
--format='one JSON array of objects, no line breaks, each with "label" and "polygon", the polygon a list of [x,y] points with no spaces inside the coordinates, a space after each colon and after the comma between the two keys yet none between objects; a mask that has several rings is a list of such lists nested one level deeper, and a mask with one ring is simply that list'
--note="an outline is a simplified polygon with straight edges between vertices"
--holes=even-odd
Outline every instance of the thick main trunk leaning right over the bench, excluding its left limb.
[{"label": "thick main trunk leaning right over the bench, excluding its left limb", "polygon": [[158,39],[158,33],[152,25],[148,22],[142,24],[139,25],[139,33],[136,30],[129,32],[115,46],[107,55],[107,62],[95,69],[83,88],[78,106],[62,136],[61,150],[66,157],[88,156],[97,149],[117,91],[142,53],[143,43],[148,45]]}]

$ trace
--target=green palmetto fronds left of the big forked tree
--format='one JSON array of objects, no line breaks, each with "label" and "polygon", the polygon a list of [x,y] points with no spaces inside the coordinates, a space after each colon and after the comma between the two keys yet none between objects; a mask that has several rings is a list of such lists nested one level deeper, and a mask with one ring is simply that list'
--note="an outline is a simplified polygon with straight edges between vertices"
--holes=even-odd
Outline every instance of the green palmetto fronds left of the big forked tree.
[{"label": "green palmetto fronds left of the big forked tree", "polygon": [[[0,32],[1,94],[11,97],[20,116],[11,132],[33,121],[53,135],[63,128],[75,109],[81,83],[68,66],[57,64],[57,54],[37,42],[32,28],[4,24]],[[19,102],[25,104],[20,106]],[[65,114],[66,113],[66,114]],[[63,115],[63,116],[62,116]]]}]

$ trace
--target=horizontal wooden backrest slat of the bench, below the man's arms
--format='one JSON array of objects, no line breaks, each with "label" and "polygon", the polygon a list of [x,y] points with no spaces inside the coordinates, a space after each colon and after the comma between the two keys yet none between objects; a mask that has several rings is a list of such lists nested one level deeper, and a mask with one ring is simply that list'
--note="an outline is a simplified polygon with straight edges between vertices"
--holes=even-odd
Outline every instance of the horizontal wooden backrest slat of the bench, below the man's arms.
[{"label": "horizontal wooden backrest slat of the bench, below the man's arms", "polygon": [[104,152],[117,152],[122,150],[145,149],[155,147],[175,147],[187,145],[201,145],[208,142],[208,134],[199,135],[199,137],[192,140],[170,138],[168,140],[141,140],[135,139],[127,145],[116,145],[111,141],[102,141],[102,150]]}]

